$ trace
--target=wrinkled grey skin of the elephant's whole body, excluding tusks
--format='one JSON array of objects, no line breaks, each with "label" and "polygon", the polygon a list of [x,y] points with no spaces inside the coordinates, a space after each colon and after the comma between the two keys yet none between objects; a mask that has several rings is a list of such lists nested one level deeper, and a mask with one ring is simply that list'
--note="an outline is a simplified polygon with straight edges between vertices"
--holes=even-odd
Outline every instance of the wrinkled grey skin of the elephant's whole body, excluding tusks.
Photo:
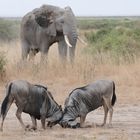
[{"label": "wrinkled grey skin of the elephant's whole body, excluding tusks", "polygon": [[[72,47],[68,47],[64,35]],[[70,61],[75,57],[77,42],[76,18],[70,7],[64,9],[43,5],[26,14],[21,22],[22,59],[32,59],[41,52],[41,61],[47,59],[50,46],[57,42],[60,58],[67,59],[69,49]]]}]

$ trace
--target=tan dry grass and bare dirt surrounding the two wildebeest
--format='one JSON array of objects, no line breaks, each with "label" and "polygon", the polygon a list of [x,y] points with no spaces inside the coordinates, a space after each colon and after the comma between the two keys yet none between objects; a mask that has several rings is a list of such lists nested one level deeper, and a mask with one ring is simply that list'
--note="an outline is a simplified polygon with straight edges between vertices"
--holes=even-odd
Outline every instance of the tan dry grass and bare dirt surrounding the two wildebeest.
[{"label": "tan dry grass and bare dirt surrounding the two wildebeest", "polygon": [[[56,125],[42,130],[38,121],[37,131],[25,132],[15,116],[16,106],[13,104],[6,117],[4,130],[0,132],[0,140],[139,140],[140,61],[130,65],[96,65],[96,62],[90,58],[81,57],[80,53],[73,67],[67,65],[64,68],[57,62],[58,56],[54,50],[55,47],[50,52],[51,60],[47,67],[29,64],[26,68],[21,68],[18,61],[19,43],[2,47],[1,51],[6,53],[8,64],[6,77],[0,82],[0,105],[5,97],[5,85],[10,80],[25,79],[32,83],[45,84],[55,100],[63,106],[65,98],[72,89],[97,79],[112,79],[116,83],[117,95],[112,128],[94,125],[103,122],[104,112],[99,108],[89,113],[86,118],[86,123],[92,124],[91,128],[64,129]],[[23,113],[22,117],[26,124],[31,124],[29,115]]]}]

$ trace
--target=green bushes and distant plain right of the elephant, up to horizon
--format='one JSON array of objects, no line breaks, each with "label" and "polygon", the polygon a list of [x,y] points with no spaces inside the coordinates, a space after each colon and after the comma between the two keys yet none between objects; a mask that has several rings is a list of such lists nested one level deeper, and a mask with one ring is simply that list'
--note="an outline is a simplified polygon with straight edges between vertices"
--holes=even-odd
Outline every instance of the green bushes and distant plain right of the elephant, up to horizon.
[{"label": "green bushes and distant plain right of the elephant, up to horizon", "polygon": [[111,63],[133,63],[140,56],[139,18],[79,19],[78,26],[89,44],[84,52],[101,63],[108,58]]}]

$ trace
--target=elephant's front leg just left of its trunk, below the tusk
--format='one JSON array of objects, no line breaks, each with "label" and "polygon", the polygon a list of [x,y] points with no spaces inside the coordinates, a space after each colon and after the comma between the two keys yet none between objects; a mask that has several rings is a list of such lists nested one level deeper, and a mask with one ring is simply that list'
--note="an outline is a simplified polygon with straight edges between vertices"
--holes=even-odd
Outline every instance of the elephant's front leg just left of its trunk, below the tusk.
[{"label": "elephant's front leg just left of its trunk, below the tusk", "polygon": [[67,45],[64,40],[58,42],[58,51],[61,62],[67,61]]}]

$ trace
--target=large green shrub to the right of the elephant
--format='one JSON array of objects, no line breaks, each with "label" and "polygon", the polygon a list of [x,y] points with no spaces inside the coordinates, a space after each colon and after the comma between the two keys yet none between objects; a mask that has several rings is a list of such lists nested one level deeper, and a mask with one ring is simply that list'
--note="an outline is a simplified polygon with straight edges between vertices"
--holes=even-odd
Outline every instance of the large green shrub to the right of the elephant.
[{"label": "large green shrub to the right of the elephant", "polygon": [[[120,63],[120,60],[127,63],[134,62],[135,58],[140,56],[140,26],[138,26],[140,22],[135,20],[123,21],[116,21],[115,24],[109,19],[110,27],[106,25],[105,28],[102,26],[98,30],[86,32],[85,37],[89,47],[84,51],[93,56],[107,54],[113,62],[117,63],[118,61]],[[106,20],[105,23],[107,23]]]}]

